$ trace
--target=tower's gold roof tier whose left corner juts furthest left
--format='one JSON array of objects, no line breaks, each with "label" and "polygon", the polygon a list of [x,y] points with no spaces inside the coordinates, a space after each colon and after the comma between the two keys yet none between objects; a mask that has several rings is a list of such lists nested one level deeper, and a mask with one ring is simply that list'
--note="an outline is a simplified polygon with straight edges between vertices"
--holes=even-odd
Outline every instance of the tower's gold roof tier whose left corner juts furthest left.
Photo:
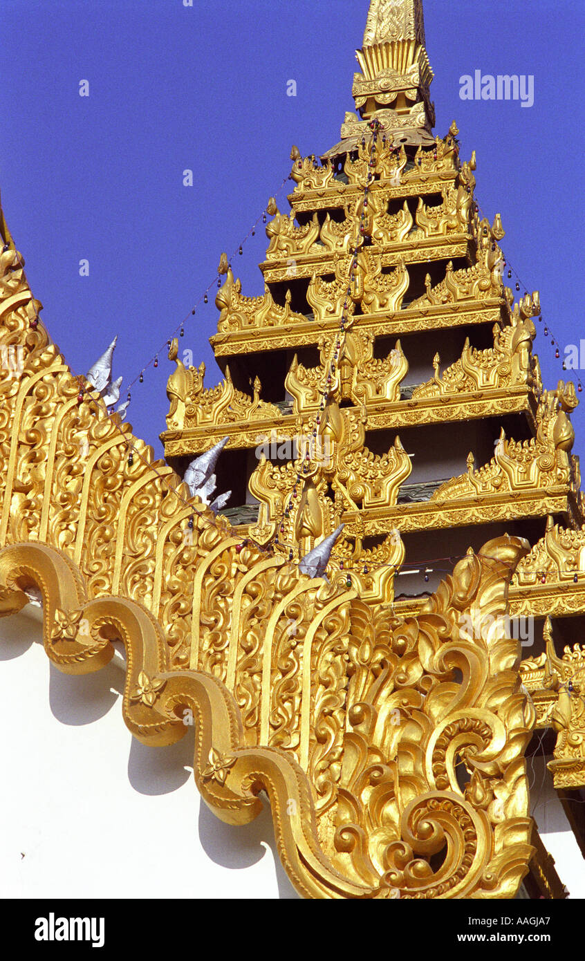
[{"label": "tower's gold roof tier whose left corner juts furthest left", "polygon": [[[542,389],[538,358],[531,352],[535,333],[530,317],[512,314],[511,324],[507,327],[494,326],[493,348],[477,351],[466,341],[460,359],[442,375],[440,357],[436,355],[434,377],[415,387],[409,398],[401,400],[400,384],[406,377],[408,361],[402,353],[400,341],[389,357],[375,360],[374,338],[361,327],[354,332],[349,329],[348,343],[339,361],[342,368],[341,397],[353,400],[356,410],[366,407],[370,431],[498,416],[520,410],[530,412],[535,421],[536,395]],[[238,417],[232,416],[232,411],[226,416],[226,381],[206,395],[212,398],[212,404],[206,407],[205,424],[199,424],[202,415],[196,407],[194,416],[189,414],[185,418],[182,415],[176,429],[171,426],[161,435],[167,455],[207,450],[210,437],[220,440],[227,435],[230,437],[228,446],[250,447],[256,446],[260,431],[275,430],[280,438],[292,436],[299,431],[299,418],[302,431],[308,430],[311,420],[307,414],[316,411],[318,384],[324,378],[329,362],[329,338],[322,337],[319,346],[319,367],[305,369],[298,364],[296,357],[293,359],[285,380],[285,387],[293,397],[289,414],[280,408],[274,408],[271,413],[270,407],[273,406],[262,405],[258,400],[258,383],[254,400],[243,395],[245,404],[238,407]],[[169,357],[176,359],[176,353],[177,346],[173,342]],[[179,378],[177,374],[169,378],[167,393],[176,395],[180,411],[190,410],[200,396],[203,385],[200,373],[201,367],[199,371],[189,368],[185,374],[180,371]],[[167,424],[178,417],[177,413],[169,414]],[[249,420],[254,426],[245,424]]]}]

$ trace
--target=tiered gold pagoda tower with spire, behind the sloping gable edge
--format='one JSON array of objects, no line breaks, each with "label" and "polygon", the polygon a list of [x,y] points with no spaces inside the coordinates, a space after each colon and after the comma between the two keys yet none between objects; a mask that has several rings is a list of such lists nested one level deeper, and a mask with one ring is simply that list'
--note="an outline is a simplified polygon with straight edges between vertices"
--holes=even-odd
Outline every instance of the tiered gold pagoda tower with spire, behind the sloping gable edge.
[{"label": "tiered gold pagoda tower with spire, behind the sloping gable edge", "polygon": [[320,162],[293,147],[290,212],[268,203],[264,295],[245,296],[222,255],[210,343],[224,381],[206,388],[203,365],[185,369],[172,344],[165,455],[181,472],[228,437],[218,479],[242,543],[300,560],[343,526],[329,579],[401,616],[468,550],[527,540],[508,630],[538,736],[549,730],[551,751],[558,734],[548,767],[582,845],[574,386],[543,387],[539,294],[506,286],[500,214],[490,223],[475,201],[475,152],[460,158],[454,122],[431,134],[421,0],[372,0],[356,58],[357,112],[339,143]]}]

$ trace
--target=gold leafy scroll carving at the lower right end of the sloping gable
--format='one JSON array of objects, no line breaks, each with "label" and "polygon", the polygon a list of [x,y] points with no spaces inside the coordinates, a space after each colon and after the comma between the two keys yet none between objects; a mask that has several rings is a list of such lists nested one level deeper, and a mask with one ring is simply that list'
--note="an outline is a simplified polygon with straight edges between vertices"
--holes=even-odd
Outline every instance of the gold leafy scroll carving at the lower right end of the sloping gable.
[{"label": "gold leafy scroll carving at the lower right end of the sloping gable", "polygon": [[[490,548],[486,546],[481,555],[486,559],[491,556]],[[455,582],[461,584],[463,579],[469,584],[465,590],[466,600],[460,609],[469,611],[468,605],[473,595],[472,606],[478,604],[482,612],[488,607],[496,611],[498,596],[491,596],[488,600],[487,584],[482,581],[480,567],[475,567],[479,556],[470,556],[455,568]],[[495,571],[491,577],[494,575]],[[341,766],[340,803],[334,822],[334,837],[338,850],[345,855],[342,855],[341,863],[347,864],[349,860],[353,870],[362,876],[375,874],[379,871],[380,860],[383,861],[384,881],[391,888],[399,888],[401,897],[404,897],[404,891],[410,897],[418,898],[498,897],[501,882],[493,877],[491,870],[485,872],[477,852],[483,847],[482,838],[486,837],[486,830],[489,831],[488,825],[499,824],[498,833],[500,829],[505,833],[512,830],[512,824],[519,827],[522,824],[521,810],[506,808],[506,802],[502,801],[509,789],[504,785],[510,785],[518,776],[514,762],[506,768],[507,774],[501,767],[494,768],[491,764],[493,753],[488,745],[496,727],[495,715],[489,718],[485,710],[490,699],[488,690],[484,690],[480,702],[475,701],[473,696],[472,701],[459,701],[456,696],[457,704],[453,711],[452,688],[448,678],[444,675],[444,680],[439,679],[432,669],[431,678],[423,678],[418,673],[418,664],[414,667],[417,662],[415,652],[422,658],[421,666],[430,666],[432,663],[438,667],[441,663],[441,672],[461,656],[459,663],[467,665],[463,670],[469,671],[470,678],[476,677],[478,665],[472,666],[468,660],[471,650],[459,634],[458,615],[447,613],[455,590],[455,583],[446,581],[439,593],[427,603],[426,612],[419,616],[416,625],[409,620],[389,620],[385,612],[373,613],[371,608],[359,601],[352,605],[353,625],[358,624],[359,629],[353,650],[350,647],[354,663],[350,697],[355,697],[357,703],[350,716],[353,730],[345,738],[347,747]],[[441,636],[449,640],[441,642]],[[381,666],[382,658],[388,662],[384,653],[388,642],[394,656],[388,668],[375,681],[377,672],[373,672],[372,668],[377,662]],[[489,645],[483,648],[482,656],[487,655],[483,663],[488,675],[494,678],[494,672],[502,669],[507,671],[507,666],[504,667],[504,662],[500,661],[497,667],[491,661],[489,650]],[[502,653],[503,647],[500,648],[500,656]],[[412,663],[414,668],[412,671],[409,668],[407,675],[402,673],[405,661]],[[427,671],[428,667],[425,674]],[[498,681],[492,680],[489,687],[495,692]],[[527,715],[523,714],[525,704],[522,696],[514,693],[513,686],[508,692],[513,699],[509,708],[517,718],[513,724],[518,724],[520,730],[527,720]],[[496,703],[499,704],[496,712],[500,719],[501,712],[506,710],[502,695],[502,690],[498,689],[496,701],[490,700],[491,711],[494,711]],[[393,712],[397,712],[401,718],[404,713],[405,724],[401,722],[393,727]],[[453,738],[458,744],[455,753],[449,747]],[[422,760],[424,755],[427,755],[427,764],[419,766],[415,758]],[[463,792],[455,776],[457,758],[465,764],[470,778]],[[413,767],[418,772],[416,775]],[[406,790],[404,776],[409,781]],[[399,785],[402,788],[400,792]],[[427,795],[429,787],[431,797]],[[364,844],[369,834],[368,825],[372,821],[377,822],[377,812],[382,810],[385,830],[382,829],[375,836],[370,835],[373,841],[375,839],[374,844]],[[451,841],[449,863],[444,864],[438,875],[433,875],[425,867],[425,859],[421,862],[421,872],[416,875],[408,866],[409,861],[412,865],[410,859],[414,851],[418,849],[422,852],[420,831],[423,821],[429,825],[427,855],[441,850],[446,837]],[[401,822],[410,828],[410,837],[404,839],[405,844],[404,841],[394,841]],[[434,825],[435,829],[432,830],[430,825]],[[459,839],[458,843],[455,843],[455,837]],[[511,839],[511,833],[509,837]],[[358,838],[362,839],[359,844]],[[498,848],[496,859],[506,860],[503,838]],[[470,874],[482,877],[479,888],[481,895],[478,889],[471,894],[468,887]]]}]

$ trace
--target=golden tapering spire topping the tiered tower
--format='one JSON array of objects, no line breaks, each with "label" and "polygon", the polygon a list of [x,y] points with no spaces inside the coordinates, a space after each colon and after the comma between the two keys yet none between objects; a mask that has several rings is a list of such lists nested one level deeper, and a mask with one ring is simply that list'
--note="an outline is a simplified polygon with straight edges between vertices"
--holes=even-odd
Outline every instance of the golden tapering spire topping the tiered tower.
[{"label": "golden tapering spire topping the tiered tower", "polygon": [[341,136],[361,137],[378,117],[384,133],[397,141],[430,142],[434,107],[422,0],[371,0],[363,46],[355,54],[353,99],[359,117],[347,113]]}]

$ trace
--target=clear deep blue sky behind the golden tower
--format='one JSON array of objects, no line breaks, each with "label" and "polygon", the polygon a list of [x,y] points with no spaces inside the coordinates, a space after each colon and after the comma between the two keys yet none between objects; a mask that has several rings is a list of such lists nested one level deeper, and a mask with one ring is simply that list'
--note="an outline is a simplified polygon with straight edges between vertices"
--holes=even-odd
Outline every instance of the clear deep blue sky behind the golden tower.
[{"label": "clear deep blue sky behind the golden tower", "polygon": [[[43,320],[76,373],[119,334],[114,375],[134,380],[129,420],[153,444],[165,427],[164,345],[213,283],[290,171],[293,143],[319,154],[339,139],[368,0],[3,0],[0,189]],[[541,293],[561,344],[537,325],[548,386],[564,345],[584,338],[582,37],[573,0],[427,0],[435,133],[456,119],[477,155],[477,199],[501,213],[502,249]],[[534,106],[465,101],[459,78],[534,77]],[[297,96],[286,95],[289,80]],[[80,97],[81,80],[89,96]],[[183,170],[196,171],[193,187]],[[288,184],[289,188],[290,185]],[[287,210],[285,188],[279,206]],[[233,260],[243,292],[262,292],[262,225]],[[89,276],[79,263],[89,260]],[[209,303],[183,349],[220,378]],[[577,375],[579,372],[576,372]],[[580,372],[585,379],[585,371]],[[580,395],[585,398],[585,392]],[[585,409],[573,414],[585,454]]]}]

